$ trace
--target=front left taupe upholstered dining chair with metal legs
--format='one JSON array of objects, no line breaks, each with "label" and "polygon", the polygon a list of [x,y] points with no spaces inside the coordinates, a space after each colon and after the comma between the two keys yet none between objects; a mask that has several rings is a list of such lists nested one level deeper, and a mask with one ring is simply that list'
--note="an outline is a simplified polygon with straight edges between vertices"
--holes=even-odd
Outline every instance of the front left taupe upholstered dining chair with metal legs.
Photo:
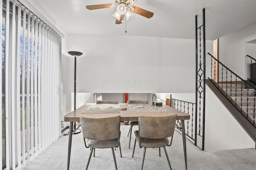
[{"label": "front left taupe upholstered dining chair with metal legs", "polygon": [[[116,156],[114,153],[114,147],[120,148],[120,115],[104,118],[92,118],[88,116],[80,116],[80,122],[82,127],[82,134],[84,137],[84,145],[86,148],[91,148],[90,156],[86,166],[88,169],[92,152],[94,149],[111,148],[114,158],[115,167]],[[122,154],[121,154],[122,157]]]}]

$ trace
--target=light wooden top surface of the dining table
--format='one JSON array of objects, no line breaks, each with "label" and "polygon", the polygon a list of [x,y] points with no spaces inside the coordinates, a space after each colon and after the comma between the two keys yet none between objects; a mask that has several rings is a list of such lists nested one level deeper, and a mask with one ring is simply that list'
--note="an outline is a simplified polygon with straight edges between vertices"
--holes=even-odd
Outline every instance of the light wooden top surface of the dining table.
[{"label": "light wooden top surface of the dining table", "polygon": [[[131,111],[129,107],[127,110],[120,110],[120,113],[82,113],[86,108],[88,108],[92,103],[84,104],[83,106],[79,107],[78,109],[71,111],[70,113],[64,116],[64,121],[80,121],[80,115],[86,116],[93,116],[95,118],[98,117],[106,117],[106,116],[114,116],[120,115],[121,121],[138,121],[138,115],[168,115],[168,114],[177,114],[177,120],[188,120],[190,119],[190,115],[174,109],[170,106],[163,105],[162,107],[167,107],[169,109],[168,112],[138,112],[138,111]],[[120,107],[127,105],[125,103],[120,103]],[[150,104],[148,104],[150,105]]]}]

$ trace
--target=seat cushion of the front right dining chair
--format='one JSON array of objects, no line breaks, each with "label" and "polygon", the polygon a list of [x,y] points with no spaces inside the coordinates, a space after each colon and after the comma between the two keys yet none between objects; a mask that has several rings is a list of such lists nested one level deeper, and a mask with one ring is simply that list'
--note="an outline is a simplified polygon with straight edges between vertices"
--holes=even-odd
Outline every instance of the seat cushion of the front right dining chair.
[{"label": "seat cushion of the front right dining chair", "polygon": [[[134,131],[135,137],[137,141],[139,142],[139,131]],[[141,147],[144,148],[160,148],[160,147],[165,147],[168,145],[168,139],[163,138],[163,139],[147,139],[147,138],[142,138],[140,137],[140,144]]]}]

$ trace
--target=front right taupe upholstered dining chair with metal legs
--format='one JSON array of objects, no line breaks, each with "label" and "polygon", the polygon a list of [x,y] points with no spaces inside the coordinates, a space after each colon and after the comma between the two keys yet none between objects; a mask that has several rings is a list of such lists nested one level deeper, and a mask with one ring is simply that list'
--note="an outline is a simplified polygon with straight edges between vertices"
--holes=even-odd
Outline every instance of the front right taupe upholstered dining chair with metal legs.
[{"label": "front right taupe upholstered dining chair with metal legs", "polygon": [[[146,148],[159,148],[163,147],[166,154],[166,158],[170,169],[172,169],[170,160],[166,151],[166,146],[172,145],[172,137],[174,134],[175,123],[177,119],[176,114],[172,115],[158,115],[158,116],[145,116],[139,115],[139,130],[134,131],[135,142],[132,152],[132,157],[134,155],[134,149],[136,141],[138,141],[139,147],[144,147],[142,166],[143,168]],[[170,141],[167,139],[171,137]]]}]

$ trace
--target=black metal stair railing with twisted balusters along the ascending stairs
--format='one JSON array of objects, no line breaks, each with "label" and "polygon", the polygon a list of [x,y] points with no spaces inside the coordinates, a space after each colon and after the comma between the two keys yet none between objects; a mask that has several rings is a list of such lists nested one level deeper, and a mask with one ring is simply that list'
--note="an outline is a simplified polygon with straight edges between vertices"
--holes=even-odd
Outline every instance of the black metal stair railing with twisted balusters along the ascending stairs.
[{"label": "black metal stair railing with twisted balusters along the ascending stairs", "polygon": [[208,79],[256,127],[256,89],[210,53],[208,55],[211,57],[211,78],[208,77]]}]

